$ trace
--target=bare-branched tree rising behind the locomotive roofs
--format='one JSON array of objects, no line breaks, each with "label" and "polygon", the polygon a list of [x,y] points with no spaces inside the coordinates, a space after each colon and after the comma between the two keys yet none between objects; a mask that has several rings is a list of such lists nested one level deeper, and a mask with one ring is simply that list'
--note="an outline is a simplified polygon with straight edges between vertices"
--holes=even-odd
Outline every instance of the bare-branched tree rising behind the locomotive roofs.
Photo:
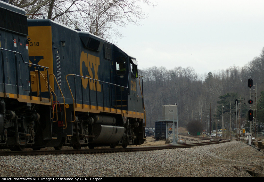
[{"label": "bare-branched tree rising behind the locomotive roofs", "polygon": [[71,28],[89,31],[106,40],[122,37],[118,28],[127,23],[139,24],[147,18],[142,4],[155,6],[148,0],[10,0],[24,8],[29,18],[43,14],[48,19]]}]

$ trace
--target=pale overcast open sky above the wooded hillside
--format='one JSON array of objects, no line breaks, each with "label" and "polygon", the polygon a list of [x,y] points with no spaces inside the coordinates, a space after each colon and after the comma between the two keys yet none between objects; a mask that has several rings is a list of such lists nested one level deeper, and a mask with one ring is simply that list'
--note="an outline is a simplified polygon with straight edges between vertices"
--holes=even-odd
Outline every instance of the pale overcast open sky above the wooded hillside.
[{"label": "pale overcast open sky above the wooded hillside", "polygon": [[244,66],[264,47],[263,0],[159,0],[117,45],[138,68],[191,66],[199,74]]}]

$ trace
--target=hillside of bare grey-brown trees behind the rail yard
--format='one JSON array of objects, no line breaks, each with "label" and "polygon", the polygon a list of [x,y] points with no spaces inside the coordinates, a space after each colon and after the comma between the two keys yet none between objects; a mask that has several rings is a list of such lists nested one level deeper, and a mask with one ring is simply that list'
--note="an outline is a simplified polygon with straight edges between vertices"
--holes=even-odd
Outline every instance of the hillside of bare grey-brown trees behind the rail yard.
[{"label": "hillside of bare grey-brown trees behind the rail yard", "polygon": [[[243,67],[234,65],[227,70],[217,70],[199,75],[193,67],[175,67],[167,70],[162,66],[154,66],[139,70],[139,74],[144,76],[147,127],[155,127],[158,114],[162,114],[162,105],[177,104],[179,126],[185,126],[192,120],[201,120],[204,125],[207,125],[205,121],[209,120],[211,105],[212,122],[220,120],[219,129],[221,129],[223,104],[224,122],[228,122],[227,127],[229,128],[230,103],[231,119],[234,119],[232,122],[235,122],[235,99],[239,100],[240,98],[242,127],[247,127],[248,78],[252,78],[253,85],[257,85],[258,123],[264,122],[264,104],[261,102],[264,100],[264,47],[260,56],[254,57]],[[232,125],[232,127],[234,126]],[[262,125],[260,124],[259,127]]]}]

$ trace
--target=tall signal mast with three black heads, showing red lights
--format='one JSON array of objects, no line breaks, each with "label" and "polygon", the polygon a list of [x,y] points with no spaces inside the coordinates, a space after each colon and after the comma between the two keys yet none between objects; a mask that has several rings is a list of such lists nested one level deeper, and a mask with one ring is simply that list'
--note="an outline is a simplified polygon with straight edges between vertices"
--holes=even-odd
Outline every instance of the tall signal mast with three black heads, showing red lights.
[{"label": "tall signal mast with three black heads, showing red lights", "polygon": [[253,80],[249,78],[248,87],[249,87],[248,104],[250,104],[249,105],[250,108],[248,110],[248,120],[253,121],[252,126],[255,127],[255,132],[256,132],[255,137],[257,137],[257,132],[258,132],[257,131],[257,84],[253,85]]}]

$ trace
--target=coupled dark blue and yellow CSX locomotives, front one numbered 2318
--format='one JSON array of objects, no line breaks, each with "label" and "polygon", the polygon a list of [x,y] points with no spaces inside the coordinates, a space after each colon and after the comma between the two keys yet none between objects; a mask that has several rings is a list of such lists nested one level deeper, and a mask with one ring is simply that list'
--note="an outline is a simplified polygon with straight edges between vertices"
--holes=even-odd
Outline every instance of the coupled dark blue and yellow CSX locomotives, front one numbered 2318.
[{"label": "coupled dark blue and yellow CSX locomotives, front one numbered 2318", "polygon": [[0,1],[0,51],[1,148],[144,143],[138,63],[116,45]]}]

